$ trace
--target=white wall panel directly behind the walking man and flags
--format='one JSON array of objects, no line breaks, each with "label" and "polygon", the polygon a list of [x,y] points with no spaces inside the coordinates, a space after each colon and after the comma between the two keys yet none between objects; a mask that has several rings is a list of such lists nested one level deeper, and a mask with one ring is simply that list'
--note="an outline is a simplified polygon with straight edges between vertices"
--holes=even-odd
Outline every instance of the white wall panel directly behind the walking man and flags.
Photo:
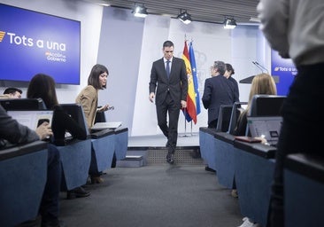
[{"label": "white wall panel directly behind the walking man and flags", "polygon": [[[167,39],[174,42],[174,55],[181,58],[185,36],[193,41],[200,99],[204,92],[204,80],[210,76],[214,60],[231,63],[235,67],[234,77],[237,81],[255,74],[251,61],[257,59],[258,27],[227,30],[221,25],[201,22],[184,25],[180,20],[149,15],[145,19],[143,32],[132,136],[162,134],[158,129],[155,105],[148,99],[150,67],[155,59],[163,57],[162,43]],[[248,100],[249,90],[250,84],[240,84],[242,101]],[[200,127],[207,125],[207,110],[202,103],[200,106],[202,112],[197,116],[196,125],[186,122],[181,113],[180,133],[197,133]]]}]

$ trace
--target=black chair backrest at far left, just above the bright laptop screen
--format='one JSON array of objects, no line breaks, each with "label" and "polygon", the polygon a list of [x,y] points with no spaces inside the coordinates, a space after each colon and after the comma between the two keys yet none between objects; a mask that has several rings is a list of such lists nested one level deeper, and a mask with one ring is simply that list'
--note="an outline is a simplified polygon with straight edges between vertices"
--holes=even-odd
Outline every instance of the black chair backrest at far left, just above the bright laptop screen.
[{"label": "black chair backrest at far left, just above the bright laptop screen", "polygon": [[0,98],[0,105],[8,110],[45,110],[42,98]]}]

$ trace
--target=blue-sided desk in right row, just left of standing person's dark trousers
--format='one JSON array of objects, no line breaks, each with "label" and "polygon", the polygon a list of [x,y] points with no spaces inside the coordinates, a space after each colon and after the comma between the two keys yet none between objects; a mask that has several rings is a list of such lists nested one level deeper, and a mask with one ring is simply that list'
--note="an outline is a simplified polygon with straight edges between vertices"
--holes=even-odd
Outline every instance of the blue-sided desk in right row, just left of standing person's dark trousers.
[{"label": "blue-sided desk in right row, just left of standing person's dark trousers", "polygon": [[241,213],[266,226],[274,179],[274,153],[269,145],[234,141],[235,184]]}]

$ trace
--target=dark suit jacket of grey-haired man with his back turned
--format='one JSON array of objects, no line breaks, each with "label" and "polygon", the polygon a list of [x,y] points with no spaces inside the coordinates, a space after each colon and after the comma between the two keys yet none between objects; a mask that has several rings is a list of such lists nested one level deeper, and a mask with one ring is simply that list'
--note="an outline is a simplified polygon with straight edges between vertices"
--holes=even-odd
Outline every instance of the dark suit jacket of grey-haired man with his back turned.
[{"label": "dark suit jacket of grey-haired man with his back turned", "polygon": [[223,75],[204,81],[204,108],[208,109],[208,123],[219,118],[220,105],[234,104],[234,84]]}]

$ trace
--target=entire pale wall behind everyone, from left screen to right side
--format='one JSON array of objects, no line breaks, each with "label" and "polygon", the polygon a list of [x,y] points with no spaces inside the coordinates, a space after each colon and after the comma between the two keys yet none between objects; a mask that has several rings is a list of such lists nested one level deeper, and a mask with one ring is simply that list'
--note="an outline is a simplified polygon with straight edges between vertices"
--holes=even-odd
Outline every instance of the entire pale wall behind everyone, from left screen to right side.
[{"label": "entire pale wall behind everyone, from left screen to right side", "polygon": [[[240,81],[259,73],[251,61],[258,60],[266,66],[268,59],[267,44],[258,27],[238,26],[226,30],[221,25],[195,21],[184,25],[180,20],[163,16],[138,19],[130,10],[104,8],[82,1],[0,0],[0,3],[81,21],[81,85],[58,85],[58,101],[73,103],[86,86],[91,67],[96,63],[104,64],[110,76],[107,89],[99,92],[99,105],[115,106],[114,111],[105,113],[106,118],[123,121],[130,136],[161,134],[155,105],[148,96],[151,64],[162,58],[162,44],[167,39],[174,42],[174,55],[179,58],[185,36],[193,41],[200,98],[214,60],[232,64],[234,78]],[[22,88],[26,95],[26,83],[0,82],[0,92],[9,86]],[[241,101],[247,101],[250,84],[239,84],[239,89]],[[207,111],[202,104],[201,109],[196,125],[185,123],[183,114],[180,115],[179,132],[197,133],[200,127],[207,125]]]}]

